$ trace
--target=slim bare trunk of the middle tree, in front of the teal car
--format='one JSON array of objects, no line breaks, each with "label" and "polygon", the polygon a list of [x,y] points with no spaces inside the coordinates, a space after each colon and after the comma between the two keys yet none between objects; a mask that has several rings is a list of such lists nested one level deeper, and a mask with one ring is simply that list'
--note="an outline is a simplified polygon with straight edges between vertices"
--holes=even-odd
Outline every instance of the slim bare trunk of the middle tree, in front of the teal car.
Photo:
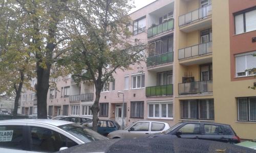
[{"label": "slim bare trunk of the middle tree, in front of the teal car", "polygon": [[99,98],[100,98],[100,92],[101,90],[97,89],[97,85],[95,86],[96,87],[96,97],[95,97],[95,101],[94,101],[94,104],[91,108],[92,110],[92,113],[93,113],[93,131],[96,131],[97,132],[97,124],[98,124],[98,113],[99,113]]}]

